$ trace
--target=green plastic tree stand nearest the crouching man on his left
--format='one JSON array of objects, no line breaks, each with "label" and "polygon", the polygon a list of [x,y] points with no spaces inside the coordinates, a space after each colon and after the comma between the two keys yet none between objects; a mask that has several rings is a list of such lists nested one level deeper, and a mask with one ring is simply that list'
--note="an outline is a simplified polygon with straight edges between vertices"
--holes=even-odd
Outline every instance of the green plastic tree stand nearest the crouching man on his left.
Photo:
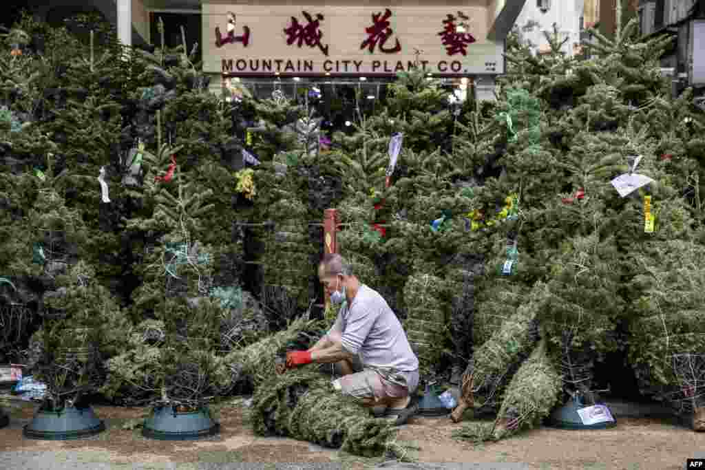
[{"label": "green plastic tree stand nearest the crouching man on his left", "polygon": [[142,435],[157,440],[195,440],[219,433],[220,424],[202,407],[192,412],[177,412],[176,407],[154,407],[145,419]]}]

